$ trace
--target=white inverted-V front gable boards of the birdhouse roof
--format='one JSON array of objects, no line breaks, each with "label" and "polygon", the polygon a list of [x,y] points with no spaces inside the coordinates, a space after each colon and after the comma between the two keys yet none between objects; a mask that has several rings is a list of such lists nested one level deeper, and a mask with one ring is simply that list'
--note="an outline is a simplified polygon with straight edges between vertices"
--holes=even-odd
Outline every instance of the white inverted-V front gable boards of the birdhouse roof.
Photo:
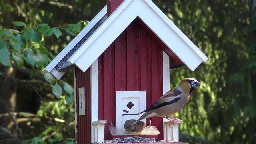
[{"label": "white inverted-V front gable boards of the birdhouse roof", "polygon": [[[133,7],[132,7],[133,6]],[[130,9],[129,9],[130,8]],[[147,11],[151,9],[150,11]],[[129,11],[130,13],[126,13],[126,11]],[[126,16],[125,18],[121,18],[123,21],[127,22],[128,20],[131,20],[130,22],[132,22],[134,19],[134,15],[139,16],[142,21],[146,21],[145,24],[146,25],[151,25],[152,26],[152,20],[150,19],[150,17],[148,16],[149,14],[146,14],[147,12],[154,12],[154,16],[157,16],[158,20],[162,20],[162,24],[160,25],[166,25],[167,27],[161,27],[158,24],[158,27],[160,27],[160,29],[155,29],[153,30],[153,32],[164,42],[166,43],[166,45],[170,48],[170,50],[172,50],[174,52],[174,54],[176,54],[178,56],[178,58],[180,58],[180,60],[182,60],[182,62],[184,62],[184,64],[192,71],[194,71],[196,69],[196,67],[202,63],[202,62],[206,62],[206,60],[208,59],[201,51],[199,48],[197,48],[196,45],[193,44],[193,42],[191,40],[189,40],[189,38],[186,37],[186,35],[151,1],[151,0],[125,0],[108,18],[107,20],[98,28],[98,30],[96,32],[94,32],[94,34],[85,42],[85,44],[83,46],[81,46],[75,54],[73,54],[73,56],[70,57],[70,59],[68,60],[69,63],[71,64],[76,64],[76,66],[78,66],[78,68],[80,68],[80,70],[82,70],[83,72],[86,71],[87,68],[90,67],[90,65],[92,64],[92,62],[94,62],[98,56],[100,56],[100,54],[102,54],[102,52],[104,52],[104,50],[106,50],[106,48],[109,46],[108,44],[111,41],[111,43],[113,42],[113,38],[116,38],[116,34],[110,34],[112,35],[112,37],[107,37],[107,40],[104,40],[105,45],[104,46],[100,46],[100,44],[96,44],[96,42],[100,42],[98,40],[98,38],[103,38],[102,35],[106,36],[105,32],[108,31],[110,32],[108,27],[112,27],[113,24],[115,24],[115,22],[117,21],[116,19],[119,19],[119,16]],[[124,15],[123,13],[126,13],[126,15]],[[150,19],[150,21],[148,20]],[[120,20],[120,19],[119,19]],[[124,29],[124,22],[122,21],[122,24],[118,27],[115,27],[116,33],[120,32],[120,29]],[[153,24],[156,26],[156,24]],[[116,25],[117,26],[117,25]],[[149,26],[150,27],[150,26]],[[113,28],[113,27],[112,27]],[[151,27],[152,28],[152,27]],[[150,28],[150,29],[151,29]],[[172,31],[172,34],[176,34],[176,38],[179,38],[179,42],[180,46],[182,47],[180,50],[179,46],[177,45],[177,42],[174,42],[173,40],[168,40],[166,39],[166,31],[160,33],[159,31],[162,31],[162,29],[170,29]],[[171,32],[169,31],[169,32]],[[121,33],[121,32],[120,32]],[[118,34],[119,35],[119,34]],[[174,36],[174,35],[172,35]],[[104,37],[105,38],[105,37]],[[103,38],[103,39],[104,39]],[[176,45],[173,45],[170,43],[170,41],[176,43]],[[101,41],[102,43],[102,41]],[[96,45],[100,46],[100,47],[95,47]],[[176,46],[175,48],[172,48],[173,46]],[[177,47],[178,46],[178,47]],[[94,47],[94,50],[92,50]],[[190,52],[190,57],[191,59],[193,59],[194,62],[192,62],[191,60],[188,59],[188,57],[186,57],[186,54],[182,54],[182,49],[186,50],[188,52]],[[97,51],[96,51],[96,50]],[[86,53],[86,54],[85,54]],[[100,53],[100,54],[98,54]],[[82,61],[81,61],[82,60]],[[84,63],[86,60],[86,63]]]}]

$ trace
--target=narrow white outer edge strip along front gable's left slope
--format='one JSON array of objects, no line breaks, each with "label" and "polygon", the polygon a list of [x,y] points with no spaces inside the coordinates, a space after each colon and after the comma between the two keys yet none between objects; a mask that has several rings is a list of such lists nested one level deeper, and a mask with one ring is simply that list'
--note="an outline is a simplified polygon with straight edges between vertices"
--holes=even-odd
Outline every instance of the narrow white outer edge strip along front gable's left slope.
[{"label": "narrow white outer edge strip along front gable's left slope", "polygon": [[[100,36],[102,32],[119,16],[119,14],[132,2],[132,0],[125,0],[116,8],[116,10],[106,19],[106,21],[94,32],[94,34],[80,46],[80,48],[68,59],[70,64],[74,62],[85,52],[85,50]],[[94,60],[95,61],[95,60]]]}]

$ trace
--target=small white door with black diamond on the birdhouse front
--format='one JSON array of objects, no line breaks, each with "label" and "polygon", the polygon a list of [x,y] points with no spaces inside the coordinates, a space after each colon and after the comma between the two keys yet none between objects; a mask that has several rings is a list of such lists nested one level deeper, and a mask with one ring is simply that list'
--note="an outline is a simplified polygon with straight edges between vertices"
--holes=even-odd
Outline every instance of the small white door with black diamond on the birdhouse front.
[{"label": "small white door with black diamond on the birdhouse front", "polygon": [[[116,127],[124,127],[126,120],[138,120],[146,110],[146,91],[116,91]],[[139,115],[129,115],[139,114]],[[142,120],[146,122],[146,120]]]}]

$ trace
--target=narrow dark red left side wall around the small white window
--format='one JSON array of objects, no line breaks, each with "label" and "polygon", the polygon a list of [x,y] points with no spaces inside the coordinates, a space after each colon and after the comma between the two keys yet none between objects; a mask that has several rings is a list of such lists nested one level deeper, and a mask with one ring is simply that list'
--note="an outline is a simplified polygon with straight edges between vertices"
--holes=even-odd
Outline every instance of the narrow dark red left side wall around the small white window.
[{"label": "narrow dark red left side wall around the small white window", "polygon": [[[82,72],[79,68],[75,68],[76,76],[76,112],[77,112],[77,143],[91,142],[91,70],[88,68],[86,72]],[[84,87],[85,91],[85,115],[79,116],[78,110],[78,88]]]}]

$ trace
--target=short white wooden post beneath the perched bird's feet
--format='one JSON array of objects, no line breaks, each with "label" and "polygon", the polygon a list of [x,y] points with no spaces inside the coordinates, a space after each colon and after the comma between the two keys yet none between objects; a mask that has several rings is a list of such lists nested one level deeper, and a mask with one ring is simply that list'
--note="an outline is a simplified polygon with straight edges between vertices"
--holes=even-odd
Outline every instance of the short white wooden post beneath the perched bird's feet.
[{"label": "short white wooden post beneath the perched bird's feet", "polygon": [[170,122],[164,122],[164,140],[179,142],[179,125],[180,121],[173,121],[172,127],[169,127]]}]

